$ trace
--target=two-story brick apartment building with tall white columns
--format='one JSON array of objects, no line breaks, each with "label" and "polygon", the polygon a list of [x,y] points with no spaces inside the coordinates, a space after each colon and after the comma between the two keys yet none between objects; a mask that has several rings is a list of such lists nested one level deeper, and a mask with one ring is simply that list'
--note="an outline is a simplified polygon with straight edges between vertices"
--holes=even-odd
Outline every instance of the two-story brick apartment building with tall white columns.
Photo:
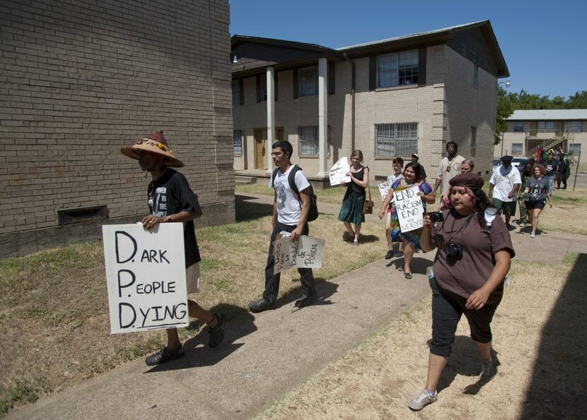
[{"label": "two-story brick apartment building with tall white columns", "polygon": [[377,177],[417,153],[434,178],[449,140],[491,169],[509,73],[488,20],[339,49],[235,35],[231,54],[237,175],[267,176],[278,138],[318,185],[354,149]]}]

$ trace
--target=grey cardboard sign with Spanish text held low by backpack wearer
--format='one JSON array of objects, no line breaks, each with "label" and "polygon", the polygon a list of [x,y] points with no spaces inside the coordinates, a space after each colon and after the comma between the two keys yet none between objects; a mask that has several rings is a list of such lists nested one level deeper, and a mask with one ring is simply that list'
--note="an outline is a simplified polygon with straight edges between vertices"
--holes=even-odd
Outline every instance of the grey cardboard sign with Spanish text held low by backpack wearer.
[{"label": "grey cardboard sign with Spanish text held low by backpack wearer", "polygon": [[274,242],[275,265],[273,274],[290,268],[320,268],[324,256],[324,239],[300,236],[292,242],[288,232],[281,232],[281,238]]}]

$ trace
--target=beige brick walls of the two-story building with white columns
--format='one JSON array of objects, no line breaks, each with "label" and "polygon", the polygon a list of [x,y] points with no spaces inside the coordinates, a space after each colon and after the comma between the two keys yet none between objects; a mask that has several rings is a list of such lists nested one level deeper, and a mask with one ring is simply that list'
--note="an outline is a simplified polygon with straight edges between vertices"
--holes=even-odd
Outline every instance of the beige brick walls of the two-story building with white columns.
[{"label": "beige brick walls of the two-story building with white columns", "polygon": [[[474,85],[474,64],[446,45],[426,48],[426,83],[369,90],[369,58],[354,59],[355,66],[355,142],[362,150],[365,164],[373,176],[393,173],[393,157],[376,157],[375,124],[416,122],[418,124],[419,162],[434,184],[438,163],[445,155],[445,145],[454,140],[459,153],[471,155],[471,127],[477,128],[475,172],[487,176],[493,152],[496,76],[479,69],[479,83]],[[335,95],[328,95],[328,125],[332,148],[328,164],[339,157],[350,157],[352,146],[352,95],[350,61],[335,62]],[[294,162],[307,175],[318,172],[318,157],[298,156],[298,126],[318,125],[318,97],[293,97],[293,71],[280,71],[277,78],[279,97],[275,102],[275,125],[284,128],[284,138],[294,145]],[[255,166],[255,128],[267,126],[267,102],[256,102],[255,77],[244,78],[243,105],[233,105],[234,129],[243,131],[242,156],[236,156],[235,169]],[[402,156],[411,160],[410,156]]]}]

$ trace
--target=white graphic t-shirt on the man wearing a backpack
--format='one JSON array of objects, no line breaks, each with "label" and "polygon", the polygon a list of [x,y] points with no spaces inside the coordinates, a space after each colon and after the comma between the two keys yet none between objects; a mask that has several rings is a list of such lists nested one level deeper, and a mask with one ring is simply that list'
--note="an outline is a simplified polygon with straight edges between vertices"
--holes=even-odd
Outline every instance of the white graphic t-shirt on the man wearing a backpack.
[{"label": "white graphic t-shirt on the man wearing a backpack", "polygon": [[[293,168],[294,165],[291,165],[285,174],[281,173],[281,169],[277,171],[275,183],[269,178],[269,188],[275,188],[277,196],[277,221],[289,226],[298,224],[301,214],[301,201],[298,199],[298,195],[289,188],[288,176]],[[301,171],[296,172],[294,181],[298,191],[303,191],[310,186],[306,175]]]}]

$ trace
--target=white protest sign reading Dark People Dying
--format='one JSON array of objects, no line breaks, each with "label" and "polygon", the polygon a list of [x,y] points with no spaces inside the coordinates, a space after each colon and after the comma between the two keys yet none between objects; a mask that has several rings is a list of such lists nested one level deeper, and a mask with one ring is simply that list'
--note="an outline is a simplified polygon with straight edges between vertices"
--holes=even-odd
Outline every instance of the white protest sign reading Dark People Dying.
[{"label": "white protest sign reading Dark People Dying", "polygon": [[183,225],[102,227],[110,332],[188,325]]}]

